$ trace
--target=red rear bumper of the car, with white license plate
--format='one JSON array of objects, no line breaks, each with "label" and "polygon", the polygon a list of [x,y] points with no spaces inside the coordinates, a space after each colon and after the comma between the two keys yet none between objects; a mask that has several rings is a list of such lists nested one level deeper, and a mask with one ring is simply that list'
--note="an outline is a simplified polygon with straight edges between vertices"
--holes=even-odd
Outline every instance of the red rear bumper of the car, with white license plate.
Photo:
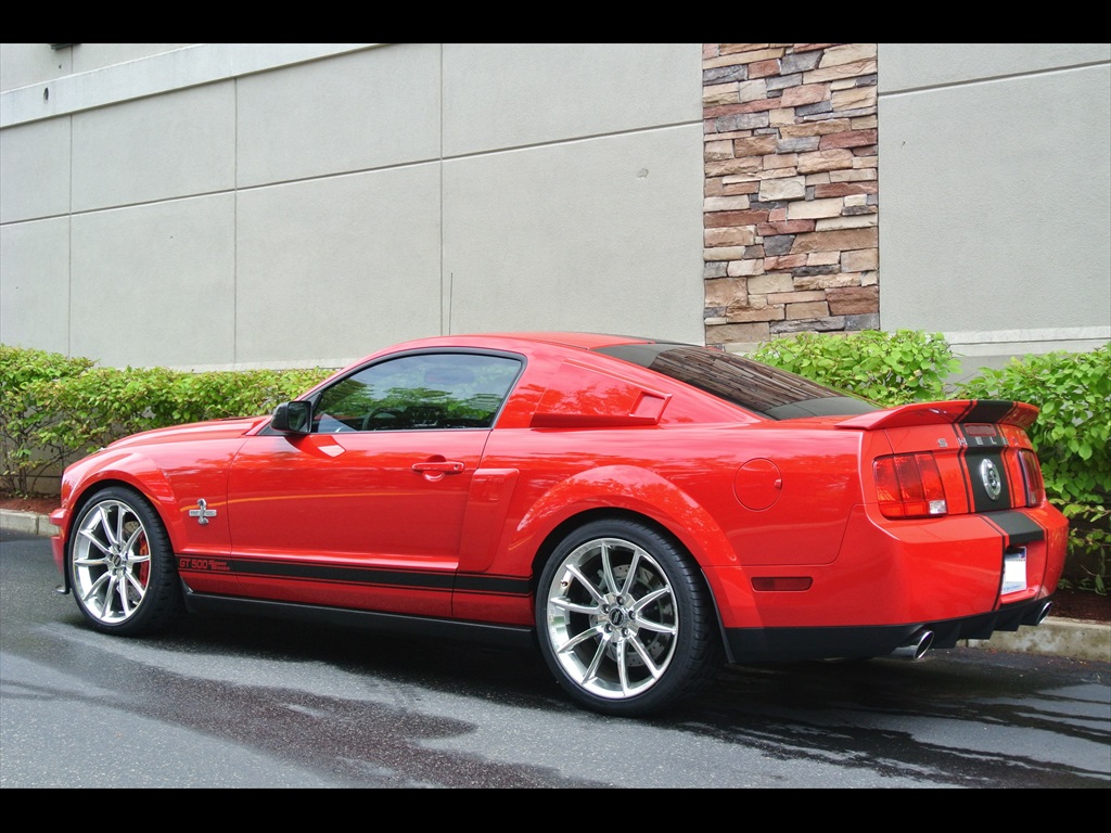
[{"label": "red rear bumper of the car, with white license plate", "polygon": [[[1049,504],[907,521],[858,506],[828,564],[705,573],[721,625],[740,634],[735,642],[745,655],[767,654],[773,645],[812,653],[795,646],[828,641],[838,646],[817,653],[860,643],[861,653],[879,655],[923,626],[937,631],[938,644],[1013,630],[1013,621],[1039,610],[1057,590],[1067,545],[1068,521]],[[777,584],[783,589],[765,590]],[[757,631],[768,635],[752,636]]]}]

